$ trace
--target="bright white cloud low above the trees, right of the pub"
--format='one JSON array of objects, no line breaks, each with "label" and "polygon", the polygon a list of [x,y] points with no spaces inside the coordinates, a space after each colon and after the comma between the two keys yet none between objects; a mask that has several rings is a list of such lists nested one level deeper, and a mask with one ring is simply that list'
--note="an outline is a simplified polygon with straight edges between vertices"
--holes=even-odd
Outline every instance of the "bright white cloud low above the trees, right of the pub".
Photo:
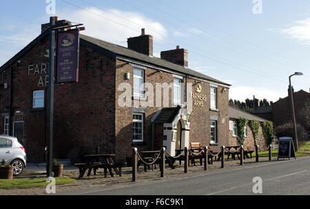
[{"label": "bright white cloud low above the trees, right of the pub", "polygon": [[283,92],[276,92],[269,88],[255,88],[251,86],[231,86],[229,89],[229,99],[245,101],[245,99],[267,99],[268,101],[278,101],[281,97],[287,97]]}]

